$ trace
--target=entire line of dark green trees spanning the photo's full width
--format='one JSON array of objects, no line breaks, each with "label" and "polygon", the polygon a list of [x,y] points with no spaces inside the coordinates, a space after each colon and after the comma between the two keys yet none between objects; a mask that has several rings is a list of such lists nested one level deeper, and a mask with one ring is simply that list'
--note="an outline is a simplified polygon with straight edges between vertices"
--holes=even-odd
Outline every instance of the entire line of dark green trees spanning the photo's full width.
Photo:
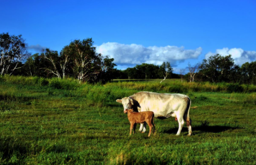
[{"label": "entire line of dark green trees spanning the photo's full width", "polygon": [[[161,66],[143,63],[126,70],[114,68],[114,59],[96,53],[92,38],[76,39],[57,52],[44,49],[31,55],[22,35],[0,34],[0,75],[38,77],[72,77],[78,82],[102,82],[111,79],[181,78],[189,82],[236,82],[256,84],[256,61],[242,66],[234,64],[231,55],[213,55],[200,64],[173,73],[170,62]],[[188,73],[185,74],[185,70]]]}]

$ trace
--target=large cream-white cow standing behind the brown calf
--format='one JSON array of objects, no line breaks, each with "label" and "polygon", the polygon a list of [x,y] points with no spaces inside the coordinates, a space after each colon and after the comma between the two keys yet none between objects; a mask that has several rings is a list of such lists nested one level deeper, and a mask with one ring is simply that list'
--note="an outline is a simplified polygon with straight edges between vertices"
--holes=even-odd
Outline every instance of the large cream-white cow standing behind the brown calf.
[{"label": "large cream-white cow standing behind the brown calf", "polygon": [[[185,94],[168,94],[154,92],[138,92],[132,96],[117,99],[118,103],[123,105],[123,109],[133,108],[135,111],[153,111],[155,117],[159,119],[167,119],[169,117],[177,117],[179,135],[187,121],[189,128],[189,136],[192,134],[191,119],[189,119],[189,109],[191,100]],[[139,131],[146,131],[146,123],[140,124]]]}]

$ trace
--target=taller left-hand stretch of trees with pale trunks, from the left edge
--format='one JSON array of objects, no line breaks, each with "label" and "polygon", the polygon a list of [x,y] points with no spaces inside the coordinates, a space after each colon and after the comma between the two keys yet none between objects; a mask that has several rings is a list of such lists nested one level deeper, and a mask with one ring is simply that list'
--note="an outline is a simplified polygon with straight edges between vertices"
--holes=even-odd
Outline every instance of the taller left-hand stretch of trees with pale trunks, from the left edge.
[{"label": "taller left-hand stretch of trees with pale trunks, from the left edge", "polygon": [[[96,53],[92,38],[76,39],[60,53],[44,49],[30,55],[21,35],[0,34],[1,75],[73,77],[79,82],[107,82],[116,66],[113,58]],[[21,69],[22,68],[22,69]]]}]

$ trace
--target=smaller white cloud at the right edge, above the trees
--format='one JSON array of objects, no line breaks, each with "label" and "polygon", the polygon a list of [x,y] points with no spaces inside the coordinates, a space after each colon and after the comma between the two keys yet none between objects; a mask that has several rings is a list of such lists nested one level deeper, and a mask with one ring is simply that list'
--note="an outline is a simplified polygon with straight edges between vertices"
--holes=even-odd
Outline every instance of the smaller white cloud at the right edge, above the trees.
[{"label": "smaller white cloud at the right edge, above the trees", "polygon": [[209,58],[211,55],[220,54],[222,56],[232,55],[235,64],[242,65],[245,62],[252,62],[256,60],[256,51],[245,51],[241,48],[223,48],[223,49],[216,49],[215,53],[208,52],[206,54],[206,59]]}]

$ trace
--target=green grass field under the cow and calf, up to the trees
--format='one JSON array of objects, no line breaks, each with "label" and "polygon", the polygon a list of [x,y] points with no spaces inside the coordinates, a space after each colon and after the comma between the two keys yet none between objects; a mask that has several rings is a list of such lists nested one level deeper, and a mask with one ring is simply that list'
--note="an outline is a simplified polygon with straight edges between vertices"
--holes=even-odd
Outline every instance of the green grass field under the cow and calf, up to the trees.
[{"label": "green grass field under the cow and calf, up to the trees", "polygon": [[[160,81],[0,78],[0,165],[256,165],[255,86]],[[116,99],[139,91],[189,95],[192,136],[174,118],[128,136]]]}]

